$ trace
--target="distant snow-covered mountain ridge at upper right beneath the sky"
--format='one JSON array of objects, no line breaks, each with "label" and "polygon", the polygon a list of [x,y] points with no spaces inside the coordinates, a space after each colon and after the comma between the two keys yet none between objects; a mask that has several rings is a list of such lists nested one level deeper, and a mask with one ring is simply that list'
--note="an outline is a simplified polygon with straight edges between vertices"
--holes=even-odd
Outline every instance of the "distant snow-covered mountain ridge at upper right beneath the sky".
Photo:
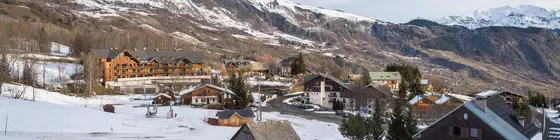
[{"label": "distant snow-covered mountain ridge at upper right beneath the sky", "polygon": [[448,16],[435,19],[444,25],[460,25],[470,29],[489,26],[560,28],[560,11],[533,5],[504,6],[477,10],[472,16]]}]

